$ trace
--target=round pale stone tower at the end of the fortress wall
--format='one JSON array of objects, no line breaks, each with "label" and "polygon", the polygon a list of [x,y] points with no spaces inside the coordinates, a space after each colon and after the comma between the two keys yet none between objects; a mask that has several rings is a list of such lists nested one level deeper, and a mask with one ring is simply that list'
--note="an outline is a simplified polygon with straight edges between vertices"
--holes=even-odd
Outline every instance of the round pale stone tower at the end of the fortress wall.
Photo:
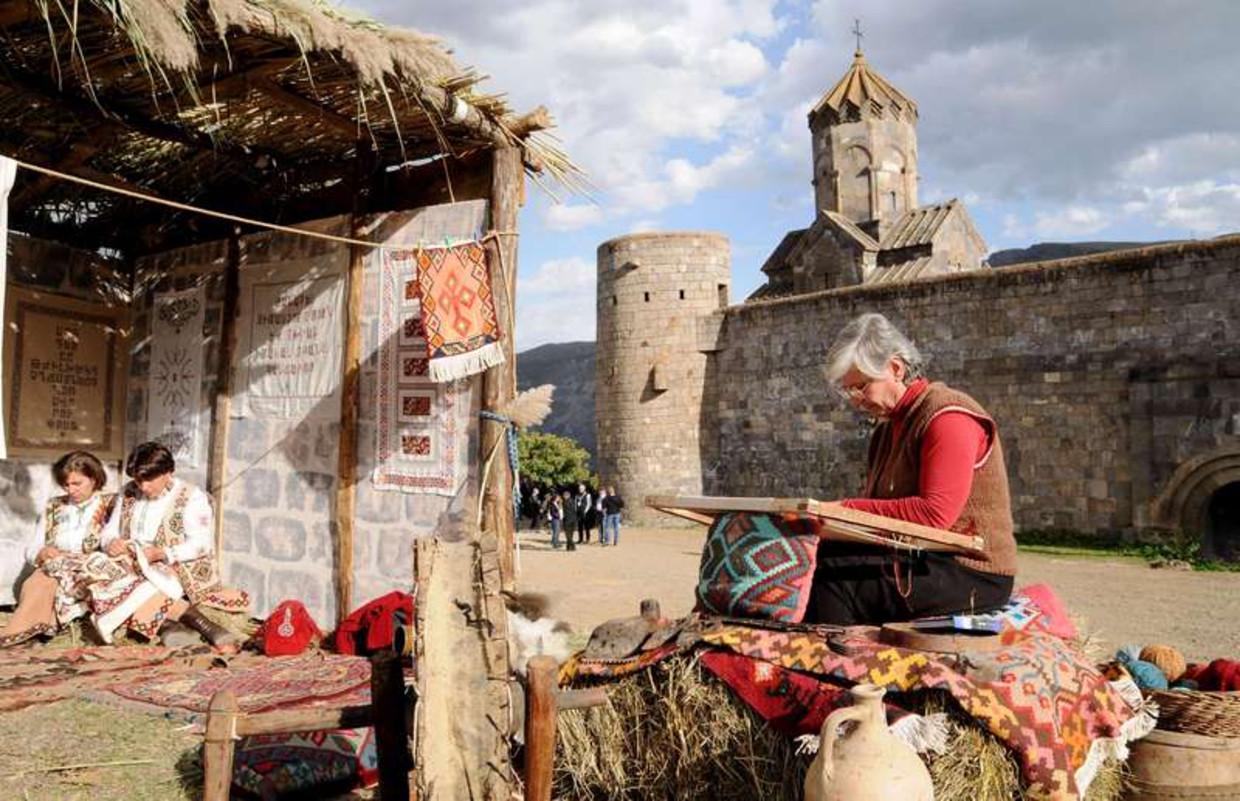
[{"label": "round pale stone tower at the end of the fortress wall", "polygon": [[599,246],[598,467],[634,520],[651,517],[647,495],[702,495],[711,331],[730,288],[723,234],[639,233]]}]

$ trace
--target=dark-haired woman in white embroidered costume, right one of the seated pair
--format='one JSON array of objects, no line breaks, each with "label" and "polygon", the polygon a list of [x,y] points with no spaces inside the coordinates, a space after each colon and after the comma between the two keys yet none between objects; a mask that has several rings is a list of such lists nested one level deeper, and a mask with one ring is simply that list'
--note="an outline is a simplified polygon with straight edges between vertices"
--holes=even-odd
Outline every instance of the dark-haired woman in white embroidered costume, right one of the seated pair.
[{"label": "dark-haired woman in white embroidered costume, right one of the seated pair", "polygon": [[159,443],[138,445],[125,464],[130,481],[100,538],[113,559],[107,582],[91,588],[95,626],[105,641],[128,627],[166,645],[201,634],[211,645],[237,641],[201,608],[243,611],[244,591],[226,589],[215,564],[215,526],[207,493],[175,475],[172,454]]}]

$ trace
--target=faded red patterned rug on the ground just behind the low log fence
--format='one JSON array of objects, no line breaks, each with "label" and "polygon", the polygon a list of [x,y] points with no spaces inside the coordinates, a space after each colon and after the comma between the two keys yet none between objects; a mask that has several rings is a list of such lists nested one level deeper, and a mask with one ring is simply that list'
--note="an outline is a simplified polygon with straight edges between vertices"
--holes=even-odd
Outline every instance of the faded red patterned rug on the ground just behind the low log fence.
[{"label": "faded red patterned rug on the ground just behind the low log fence", "polygon": [[228,667],[151,678],[126,677],[103,689],[140,709],[171,712],[201,722],[212,696],[221,689],[237,696],[242,712],[370,703],[371,663],[362,657],[335,653],[274,658],[246,655]]}]

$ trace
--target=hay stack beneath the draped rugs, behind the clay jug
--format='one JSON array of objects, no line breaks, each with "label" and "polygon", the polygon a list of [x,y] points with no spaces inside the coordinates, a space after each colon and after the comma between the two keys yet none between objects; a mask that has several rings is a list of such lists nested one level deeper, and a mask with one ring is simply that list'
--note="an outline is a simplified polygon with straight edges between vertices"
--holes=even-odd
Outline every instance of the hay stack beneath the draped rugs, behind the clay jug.
[{"label": "hay stack beneath the draped rugs, behind the clay jug", "polygon": [[[609,684],[610,703],[559,715],[554,797],[800,801],[808,756],[707,673],[676,657]],[[1011,751],[940,694],[913,706],[950,715],[947,750],[928,759],[937,801],[1025,799]],[[1107,763],[1085,801],[1117,801]]]}]

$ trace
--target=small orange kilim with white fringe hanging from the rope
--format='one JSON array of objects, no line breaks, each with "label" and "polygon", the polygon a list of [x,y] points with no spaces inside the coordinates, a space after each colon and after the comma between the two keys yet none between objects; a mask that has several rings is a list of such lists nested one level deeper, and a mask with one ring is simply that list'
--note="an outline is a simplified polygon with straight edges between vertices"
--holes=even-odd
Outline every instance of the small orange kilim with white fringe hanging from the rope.
[{"label": "small orange kilim with white fringe hanging from the rope", "polygon": [[503,363],[486,248],[465,242],[415,252],[430,379],[464,378]]}]

